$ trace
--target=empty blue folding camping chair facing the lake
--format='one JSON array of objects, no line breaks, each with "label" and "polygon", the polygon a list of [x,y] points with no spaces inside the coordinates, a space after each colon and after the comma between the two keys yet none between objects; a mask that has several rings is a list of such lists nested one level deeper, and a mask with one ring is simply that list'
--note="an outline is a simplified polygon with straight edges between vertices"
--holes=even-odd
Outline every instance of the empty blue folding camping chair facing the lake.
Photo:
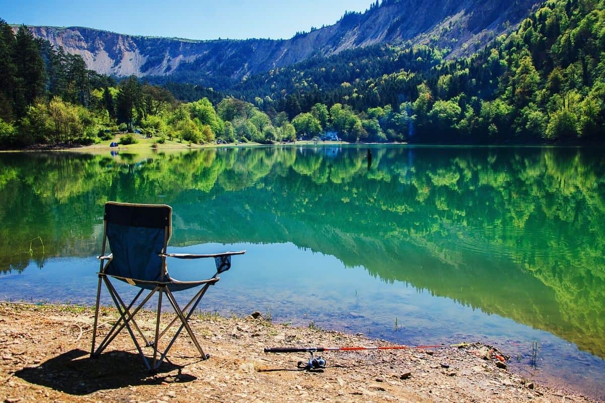
[{"label": "empty blue folding camping chair facing the lake", "polygon": [[[244,254],[246,251],[217,254],[166,253],[166,246],[168,245],[168,240],[171,236],[172,227],[172,208],[168,205],[106,202],[103,222],[105,223],[105,230],[103,231],[101,256],[99,256],[99,285],[97,287],[97,303],[94,311],[91,357],[94,358],[99,356],[111,341],[116,338],[117,334],[126,327],[137,350],[139,350],[139,354],[143,358],[145,366],[148,370],[155,371],[160,367],[163,359],[166,358],[168,350],[172,347],[172,344],[177,339],[181,330],[185,328],[200,353],[201,358],[208,359],[209,355],[204,354],[201,349],[200,343],[198,343],[194,332],[191,330],[191,327],[189,327],[188,319],[191,317],[191,314],[194,312],[198,303],[200,303],[201,297],[204,296],[209,286],[214,285],[220,280],[218,274],[231,268],[231,256]],[[111,254],[105,256],[107,241],[109,241]],[[214,257],[217,272],[214,276],[206,280],[181,282],[172,279],[172,277],[169,276],[166,266],[167,257],[175,257],[177,259]],[[122,297],[120,297],[116,288],[114,288],[111,283],[110,277],[140,288],[131,303],[128,305],[124,303]],[[120,314],[120,318],[95,350],[101,283],[105,283],[105,286],[111,295],[111,299],[113,299],[117,311]],[[200,290],[191,298],[191,301],[181,309],[172,293],[198,286],[200,286]],[[137,300],[139,300],[140,296],[145,291],[149,291],[148,294],[143,298],[139,305],[133,309]],[[157,318],[155,318],[155,335],[152,340],[148,340],[137,325],[134,317],[156,292],[158,293],[158,299]],[[160,312],[162,311],[162,298],[164,294],[166,294],[166,298],[174,309],[176,317],[160,332]],[[166,331],[179,320],[180,327],[178,327],[172,340],[169,341],[164,352],[158,357],[158,344],[160,338],[162,338]],[[135,332],[142,338],[144,347],[153,347],[152,359],[149,359],[143,353]]]}]

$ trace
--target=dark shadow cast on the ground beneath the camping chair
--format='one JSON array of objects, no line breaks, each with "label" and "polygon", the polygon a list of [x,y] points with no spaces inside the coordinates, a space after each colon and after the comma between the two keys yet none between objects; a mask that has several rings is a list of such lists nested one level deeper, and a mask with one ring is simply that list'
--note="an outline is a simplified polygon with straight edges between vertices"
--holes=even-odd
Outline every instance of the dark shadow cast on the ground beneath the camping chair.
[{"label": "dark shadow cast on the ground beneath the camping chair", "polygon": [[[197,379],[182,374],[182,369],[183,366],[164,362],[154,375],[145,369],[138,353],[111,351],[93,359],[90,358],[90,352],[73,349],[38,367],[18,370],[15,376],[70,395],[88,395],[97,390],[155,385],[163,381],[191,382]],[[178,375],[162,376],[174,370],[178,370]]]}]

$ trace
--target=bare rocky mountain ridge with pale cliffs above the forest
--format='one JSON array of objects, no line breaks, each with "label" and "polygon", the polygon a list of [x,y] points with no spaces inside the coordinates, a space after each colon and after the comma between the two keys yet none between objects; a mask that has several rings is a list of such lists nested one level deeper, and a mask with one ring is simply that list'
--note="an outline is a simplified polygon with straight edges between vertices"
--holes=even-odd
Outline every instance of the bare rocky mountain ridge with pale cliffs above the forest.
[{"label": "bare rocky mountain ridge with pale cliffs above the forest", "polygon": [[83,27],[30,27],[34,36],[79,54],[88,68],[114,76],[172,76],[180,71],[205,85],[235,83],[312,56],[368,45],[410,41],[469,54],[514,28],[535,0],[383,0],[365,13],[290,39],[189,40],[129,36]]}]

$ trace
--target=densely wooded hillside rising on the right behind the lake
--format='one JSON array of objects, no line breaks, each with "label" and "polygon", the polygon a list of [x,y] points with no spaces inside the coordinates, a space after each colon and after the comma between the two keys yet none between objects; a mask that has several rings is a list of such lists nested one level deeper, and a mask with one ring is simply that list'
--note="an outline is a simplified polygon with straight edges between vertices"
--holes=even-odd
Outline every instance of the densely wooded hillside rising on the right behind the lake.
[{"label": "densely wooded hillside rising on the right behind the lake", "polygon": [[[443,60],[431,48],[385,45],[274,69],[235,89],[289,117],[316,103],[348,105],[362,120],[388,109],[408,120],[400,137],[419,143],[600,142],[603,49],[603,0],[549,0],[471,57]],[[378,74],[397,63],[397,73]]]}]

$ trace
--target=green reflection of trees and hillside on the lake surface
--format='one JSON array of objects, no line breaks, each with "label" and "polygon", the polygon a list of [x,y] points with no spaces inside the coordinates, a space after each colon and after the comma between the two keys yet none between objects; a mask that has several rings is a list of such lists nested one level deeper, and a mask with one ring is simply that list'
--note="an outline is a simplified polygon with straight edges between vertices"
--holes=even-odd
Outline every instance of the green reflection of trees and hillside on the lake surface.
[{"label": "green reflection of trees and hillside on the lake surface", "polygon": [[0,269],[94,256],[105,201],[162,202],[174,209],[172,245],[289,242],[605,357],[600,152],[373,147],[371,156],[367,147],[2,154]]}]

